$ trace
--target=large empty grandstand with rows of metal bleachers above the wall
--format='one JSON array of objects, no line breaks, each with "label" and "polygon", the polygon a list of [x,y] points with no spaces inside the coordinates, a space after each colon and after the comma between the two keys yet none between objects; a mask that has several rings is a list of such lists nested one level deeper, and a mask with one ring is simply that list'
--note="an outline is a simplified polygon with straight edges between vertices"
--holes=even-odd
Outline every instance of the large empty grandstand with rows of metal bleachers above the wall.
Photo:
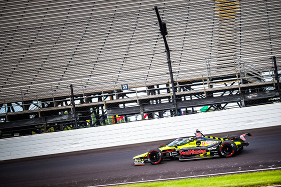
[{"label": "large empty grandstand with rows of metal bleachers above the wall", "polygon": [[279,0],[3,0],[0,11],[1,137],[280,99]]}]

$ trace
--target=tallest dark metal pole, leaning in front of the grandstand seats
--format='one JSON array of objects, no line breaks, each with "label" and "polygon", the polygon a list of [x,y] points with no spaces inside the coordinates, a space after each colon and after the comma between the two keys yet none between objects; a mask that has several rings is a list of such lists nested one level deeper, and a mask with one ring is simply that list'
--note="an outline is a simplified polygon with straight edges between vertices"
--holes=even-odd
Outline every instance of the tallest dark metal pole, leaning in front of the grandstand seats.
[{"label": "tallest dark metal pole, leaning in front of the grandstand seats", "polygon": [[167,63],[168,63],[168,67],[169,67],[172,89],[173,89],[173,100],[174,100],[174,107],[175,107],[175,115],[177,116],[178,115],[178,103],[177,103],[175,82],[174,82],[173,70],[172,70],[172,64],[171,64],[170,49],[169,49],[169,46],[168,46],[168,43],[167,43],[167,40],[166,40],[165,30],[164,30],[163,23],[162,23],[162,20],[161,20],[159,11],[158,11],[158,7],[157,6],[154,6],[154,7],[155,7],[156,14],[157,14],[159,26],[160,26],[160,31],[161,31],[161,34],[163,36],[163,40],[164,40],[164,43],[165,43],[165,48],[166,48],[166,53],[167,53]]}]

